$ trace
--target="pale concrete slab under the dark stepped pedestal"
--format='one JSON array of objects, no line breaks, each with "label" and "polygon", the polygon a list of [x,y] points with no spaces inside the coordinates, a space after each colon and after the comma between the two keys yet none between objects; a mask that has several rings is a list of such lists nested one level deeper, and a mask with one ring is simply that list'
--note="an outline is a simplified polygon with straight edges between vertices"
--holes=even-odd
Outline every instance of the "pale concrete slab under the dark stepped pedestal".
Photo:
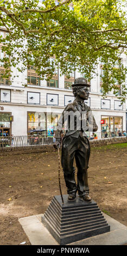
[{"label": "pale concrete slab under the dark stepped pedestal", "polygon": [[[127,227],[103,214],[110,225],[110,232],[89,237],[69,245],[124,245],[127,243]],[[59,245],[42,224],[43,214],[18,219],[31,245]]]}]

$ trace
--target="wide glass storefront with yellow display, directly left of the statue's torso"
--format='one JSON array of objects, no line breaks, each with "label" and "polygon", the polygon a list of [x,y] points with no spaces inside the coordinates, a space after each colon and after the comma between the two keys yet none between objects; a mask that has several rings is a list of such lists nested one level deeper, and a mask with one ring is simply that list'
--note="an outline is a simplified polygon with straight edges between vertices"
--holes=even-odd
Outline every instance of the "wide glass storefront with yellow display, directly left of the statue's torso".
[{"label": "wide glass storefront with yellow display, directly left of the statue's torso", "polygon": [[53,136],[61,114],[28,112],[28,135],[32,131],[43,131],[43,135]]}]

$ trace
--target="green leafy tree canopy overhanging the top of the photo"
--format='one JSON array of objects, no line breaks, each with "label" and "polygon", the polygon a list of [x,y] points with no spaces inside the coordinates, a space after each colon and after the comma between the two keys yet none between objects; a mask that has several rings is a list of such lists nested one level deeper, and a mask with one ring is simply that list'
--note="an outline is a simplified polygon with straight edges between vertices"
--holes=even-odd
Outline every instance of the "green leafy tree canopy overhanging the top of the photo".
[{"label": "green leafy tree canopy overhanging the top of the photo", "polygon": [[[8,31],[6,38],[0,36],[2,51],[6,53],[1,60],[4,68],[8,70],[13,65],[23,71],[34,65],[43,79],[52,77],[55,65],[59,64],[61,74],[78,69],[90,79],[101,61],[104,95],[112,89],[117,95],[117,84],[121,84],[119,98],[125,101],[126,67],[120,62],[120,55],[126,54],[127,48],[125,3],[0,0],[0,27]],[[20,63],[23,65],[17,65]]]}]

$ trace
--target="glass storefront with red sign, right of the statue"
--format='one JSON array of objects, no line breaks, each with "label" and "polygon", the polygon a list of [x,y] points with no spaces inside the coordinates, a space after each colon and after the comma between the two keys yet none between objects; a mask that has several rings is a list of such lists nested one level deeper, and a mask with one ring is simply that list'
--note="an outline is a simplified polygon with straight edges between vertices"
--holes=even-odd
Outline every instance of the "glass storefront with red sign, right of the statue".
[{"label": "glass storefront with red sign, right of the statue", "polygon": [[117,137],[122,134],[122,117],[101,116],[101,137]]}]

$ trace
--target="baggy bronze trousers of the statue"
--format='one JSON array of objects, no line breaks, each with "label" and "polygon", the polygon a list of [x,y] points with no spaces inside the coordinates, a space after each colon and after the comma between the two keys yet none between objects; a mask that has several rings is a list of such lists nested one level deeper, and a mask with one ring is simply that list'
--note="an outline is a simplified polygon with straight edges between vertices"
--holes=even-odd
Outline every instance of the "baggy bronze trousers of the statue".
[{"label": "baggy bronze trousers of the statue", "polygon": [[[77,184],[75,182],[75,168],[77,165]],[[90,143],[86,137],[65,137],[62,141],[61,165],[68,194],[74,194],[78,190],[79,196],[89,193],[87,169],[90,158]]]}]

